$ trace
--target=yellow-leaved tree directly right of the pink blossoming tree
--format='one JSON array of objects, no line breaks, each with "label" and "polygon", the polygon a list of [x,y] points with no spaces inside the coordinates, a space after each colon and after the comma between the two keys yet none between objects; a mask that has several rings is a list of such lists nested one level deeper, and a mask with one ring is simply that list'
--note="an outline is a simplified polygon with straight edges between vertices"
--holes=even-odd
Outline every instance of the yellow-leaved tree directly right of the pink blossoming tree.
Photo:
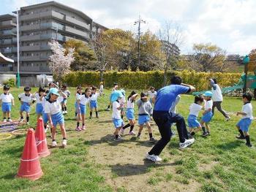
[{"label": "yellow-leaved tree directly right of the pink blossoming tree", "polygon": [[72,62],[70,68],[74,71],[94,70],[97,61],[94,50],[91,49],[85,42],[78,39],[69,39],[64,43],[64,48],[74,48],[75,61]]}]

